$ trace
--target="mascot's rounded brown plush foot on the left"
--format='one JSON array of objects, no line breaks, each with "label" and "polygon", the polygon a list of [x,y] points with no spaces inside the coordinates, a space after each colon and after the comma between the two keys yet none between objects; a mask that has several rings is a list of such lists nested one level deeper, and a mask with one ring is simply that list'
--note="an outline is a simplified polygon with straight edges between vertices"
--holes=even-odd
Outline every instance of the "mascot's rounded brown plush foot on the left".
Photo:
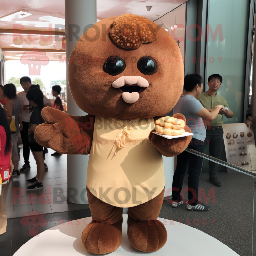
[{"label": "mascot's rounded brown plush foot on the left", "polygon": [[114,252],[122,241],[122,223],[123,219],[112,225],[92,220],[82,233],[85,249],[94,254]]}]

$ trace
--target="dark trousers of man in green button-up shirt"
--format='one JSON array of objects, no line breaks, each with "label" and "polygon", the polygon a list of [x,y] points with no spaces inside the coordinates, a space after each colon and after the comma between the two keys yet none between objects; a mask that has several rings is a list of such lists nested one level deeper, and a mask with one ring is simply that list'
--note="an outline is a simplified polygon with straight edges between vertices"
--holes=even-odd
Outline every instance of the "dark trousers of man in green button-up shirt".
[{"label": "dark trousers of man in green button-up shirt", "polygon": [[[206,129],[205,147],[209,145],[210,156],[220,159],[220,153],[223,146],[223,128],[216,130]],[[209,176],[217,178],[218,164],[209,161]]]}]

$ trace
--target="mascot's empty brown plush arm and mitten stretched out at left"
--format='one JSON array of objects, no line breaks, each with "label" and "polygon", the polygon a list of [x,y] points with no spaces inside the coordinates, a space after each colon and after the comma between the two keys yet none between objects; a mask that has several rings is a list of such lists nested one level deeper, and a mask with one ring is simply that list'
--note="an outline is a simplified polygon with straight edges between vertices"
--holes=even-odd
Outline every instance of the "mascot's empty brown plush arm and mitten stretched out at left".
[{"label": "mascot's empty brown plush arm and mitten stretched out at left", "polygon": [[43,108],[42,116],[46,124],[34,132],[40,145],[61,154],[90,154],[95,116],[71,116],[51,107]]}]

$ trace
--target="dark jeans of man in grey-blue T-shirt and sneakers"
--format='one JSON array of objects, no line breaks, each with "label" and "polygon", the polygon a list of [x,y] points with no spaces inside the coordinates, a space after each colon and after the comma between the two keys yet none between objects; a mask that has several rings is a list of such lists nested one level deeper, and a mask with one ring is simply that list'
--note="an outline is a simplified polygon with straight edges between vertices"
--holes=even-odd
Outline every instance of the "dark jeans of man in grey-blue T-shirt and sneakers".
[{"label": "dark jeans of man in grey-blue T-shirt and sneakers", "polygon": [[[204,141],[192,138],[188,148],[204,153]],[[172,182],[172,200],[181,201],[180,192],[188,168],[188,204],[198,204],[199,176],[203,167],[203,158],[183,151],[177,156],[177,166]],[[174,189],[178,191],[174,191]]]}]

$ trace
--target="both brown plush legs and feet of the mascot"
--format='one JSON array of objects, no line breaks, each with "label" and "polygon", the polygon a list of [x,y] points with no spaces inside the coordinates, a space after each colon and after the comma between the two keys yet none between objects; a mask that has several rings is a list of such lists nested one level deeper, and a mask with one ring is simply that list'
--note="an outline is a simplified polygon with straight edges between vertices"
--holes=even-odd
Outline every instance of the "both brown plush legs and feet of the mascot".
[{"label": "both brown plush legs and feet of the mascot", "polygon": [[[94,254],[113,252],[122,240],[123,209],[101,201],[87,187],[86,191],[93,220],[82,233],[84,247]],[[144,204],[128,208],[128,239],[139,251],[155,252],[166,243],[166,229],[157,220],[164,191]]]}]

